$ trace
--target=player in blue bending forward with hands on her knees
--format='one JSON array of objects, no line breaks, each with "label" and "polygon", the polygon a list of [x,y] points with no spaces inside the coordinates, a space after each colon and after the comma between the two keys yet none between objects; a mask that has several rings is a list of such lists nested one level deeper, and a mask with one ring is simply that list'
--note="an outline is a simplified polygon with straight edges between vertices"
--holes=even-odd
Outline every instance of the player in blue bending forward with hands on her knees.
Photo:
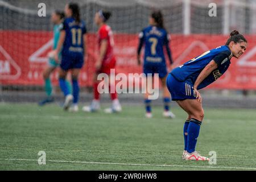
[{"label": "player in blue bending forward with hands on her knees", "polygon": [[199,130],[204,118],[199,89],[205,88],[221,77],[229,68],[232,57],[245,53],[247,40],[238,31],[230,33],[225,46],[220,46],[189,60],[172,70],[167,77],[167,87],[172,100],[186,111],[184,124],[183,160],[209,160],[195,151]]}]

